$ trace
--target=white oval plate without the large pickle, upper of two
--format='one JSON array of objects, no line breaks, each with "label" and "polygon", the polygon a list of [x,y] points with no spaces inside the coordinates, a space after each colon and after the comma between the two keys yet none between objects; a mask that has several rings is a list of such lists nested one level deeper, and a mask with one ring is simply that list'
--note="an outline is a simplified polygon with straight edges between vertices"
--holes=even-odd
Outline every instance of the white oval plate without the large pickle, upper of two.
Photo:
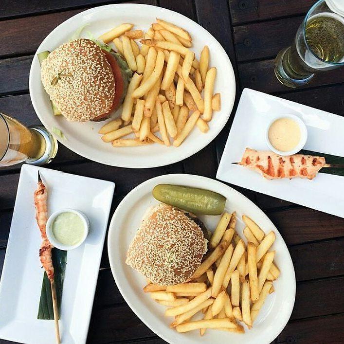
[{"label": "white oval plate without the large pickle, upper of two", "polygon": [[[208,145],[228,121],[235,99],[235,76],[229,57],[217,40],[199,24],[179,13],[161,7],[143,4],[112,4],[95,7],[81,12],[57,26],[40,44],[37,52],[53,51],[59,45],[71,39],[77,29],[88,25],[83,31],[90,31],[94,37],[100,36],[112,27],[130,22],[135,28],[147,31],[155,18],[162,18],[180,25],[189,31],[193,38],[193,50],[196,57],[204,45],[209,46],[210,66],[217,67],[215,92],[221,93],[221,111],[215,112],[209,124],[209,131],[202,134],[198,128],[190,133],[181,147],[163,145],[146,145],[119,148],[104,143],[98,134],[106,122],[68,122],[63,116],[54,116],[47,93],[40,80],[40,66],[35,56],[31,65],[29,89],[31,101],[37,116],[43,125],[53,132],[53,128],[62,130],[66,139],[53,135],[72,151],[98,163],[129,168],[147,168],[176,163],[195,154]],[[81,35],[83,36],[83,35]],[[112,43],[111,43],[112,44]],[[121,109],[115,117],[120,115]]]}]

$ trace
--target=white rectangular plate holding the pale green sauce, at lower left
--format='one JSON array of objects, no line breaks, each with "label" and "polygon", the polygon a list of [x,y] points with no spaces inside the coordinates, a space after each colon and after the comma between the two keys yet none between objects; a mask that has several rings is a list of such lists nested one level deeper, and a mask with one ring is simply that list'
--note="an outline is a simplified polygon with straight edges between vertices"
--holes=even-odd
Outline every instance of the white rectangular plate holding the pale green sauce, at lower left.
[{"label": "white rectangular plate holding the pale green sauce, at lower left", "polygon": [[60,334],[65,344],[85,343],[109,219],[114,183],[23,165],[0,281],[0,338],[21,343],[55,342],[54,320],[37,320],[43,269],[35,219],[38,170],[48,190],[48,215],[62,208],[90,220],[83,245],[67,253]]}]

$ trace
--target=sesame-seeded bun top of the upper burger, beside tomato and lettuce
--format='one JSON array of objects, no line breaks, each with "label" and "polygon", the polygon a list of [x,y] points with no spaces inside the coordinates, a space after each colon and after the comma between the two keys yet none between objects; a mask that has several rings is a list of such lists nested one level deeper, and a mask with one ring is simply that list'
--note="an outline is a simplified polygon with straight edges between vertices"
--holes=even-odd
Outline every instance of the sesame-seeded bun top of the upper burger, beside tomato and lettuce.
[{"label": "sesame-seeded bun top of the upper burger, beside tomato and lettuce", "polygon": [[69,121],[85,122],[110,111],[115,79],[102,49],[90,39],[62,44],[42,61],[41,80]]}]

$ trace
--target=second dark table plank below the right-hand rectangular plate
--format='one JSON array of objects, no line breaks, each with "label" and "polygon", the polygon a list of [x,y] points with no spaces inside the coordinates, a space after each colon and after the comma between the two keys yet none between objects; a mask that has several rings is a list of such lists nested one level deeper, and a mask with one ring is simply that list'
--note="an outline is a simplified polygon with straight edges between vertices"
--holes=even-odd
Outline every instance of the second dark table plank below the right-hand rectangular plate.
[{"label": "second dark table plank below the right-hand rectangular plate", "polygon": [[344,239],[290,248],[297,281],[344,275]]}]

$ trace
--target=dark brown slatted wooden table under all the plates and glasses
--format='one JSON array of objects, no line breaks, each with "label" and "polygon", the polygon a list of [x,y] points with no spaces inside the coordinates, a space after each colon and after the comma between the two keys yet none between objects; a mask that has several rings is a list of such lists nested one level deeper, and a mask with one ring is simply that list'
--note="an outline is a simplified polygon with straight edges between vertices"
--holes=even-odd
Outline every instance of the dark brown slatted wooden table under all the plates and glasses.
[{"label": "dark brown slatted wooden table under all the plates and glasses", "polygon": [[[43,38],[62,21],[109,0],[2,0],[0,4],[0,109],[26,125],[38,124],[30,102],[31,60]],[[343,115],[344,69],[316,76],[292,90],[276,80],[273,58],[290,45],[315,0],[141,0],[199,22],[222,44],[233,63],[237,99],[249,87]],[[223,93],[222,97],[226,95]],[[116,182],[111,216],[129,190],[166,173],[215,178],[233,115],[217,139],[194,156],[165,167],[130,170],[91,162],[59,145],[48,167]],[[244,134],[244,133],[243,133]],[[343,133],[344,134],[344,133]],[[6,251],[19,167],[0,170],[0,269]],[[234,186],[235,187],[235,186]],[[333,343],[344,338],[344,220],[297,204],[235,187],[272,219],[294,263],[296,302],[276,343]],[[331,202],[331,199],[324,199]],[[18,273],[18,272],[13,272]],[[283,273],[283,272],[282,272]],[[1,310],[0,310],[1,312]],[[1,314],[1,313],[0,313]],[[89,343],[163,343],[131,311],[115,286],[104,247],[94,298]],[[0,340],[0,343],[8,343]]]}]

